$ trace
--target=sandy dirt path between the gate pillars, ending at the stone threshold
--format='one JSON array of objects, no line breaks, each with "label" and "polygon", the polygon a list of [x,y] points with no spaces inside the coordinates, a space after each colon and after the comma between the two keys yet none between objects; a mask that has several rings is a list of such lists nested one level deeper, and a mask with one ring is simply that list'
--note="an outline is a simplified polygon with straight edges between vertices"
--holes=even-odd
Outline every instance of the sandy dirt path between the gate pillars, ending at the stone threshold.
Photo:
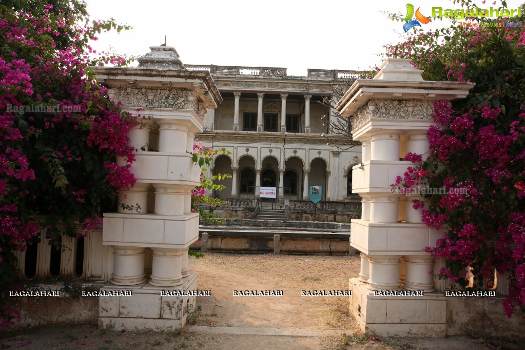
[{"label": "sandy dirt path between the gate pillars, ending at the stone threshold", "polygon": [[[204,317],[196,324],[353,331],[346,317],[348,298],[301,296],[301,291],[346,290],[348,269],[354,273],[358,263],[356,258],[322,256],[217,254],[192,259],[191,270],[201,277],[197,288],[212,292],[211,297],[198,298]],[[246,290],[283,291],[283,295],[233,295]]]}]

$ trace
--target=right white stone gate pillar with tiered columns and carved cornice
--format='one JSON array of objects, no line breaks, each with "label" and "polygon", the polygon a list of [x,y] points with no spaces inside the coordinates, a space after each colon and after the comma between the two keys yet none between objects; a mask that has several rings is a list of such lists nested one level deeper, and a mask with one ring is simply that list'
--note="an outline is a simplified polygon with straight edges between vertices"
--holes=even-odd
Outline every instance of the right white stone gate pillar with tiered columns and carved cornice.
[{"label": "right white stone gate pillar with tiered columns and carved cornice", "polygon": [[[444,337],[446,299],[436,292],[434,259],[424,252],[443,232],[421,222],[412,199],[393,193],[411,162],[428,156],[433,100],[464,98],[471,83],[424,81],[408,60],[388,59],[371,80],[357,80],[335,106],[352,116],[353,140],[363,163],[352,169],[352,193],[363,199],[362,218],[352,219],[350,245],[361,251],[359,278],[349,287],[350,313],[363,331],[380,336]],[[410,193],[412,195],[412,193]]]}]

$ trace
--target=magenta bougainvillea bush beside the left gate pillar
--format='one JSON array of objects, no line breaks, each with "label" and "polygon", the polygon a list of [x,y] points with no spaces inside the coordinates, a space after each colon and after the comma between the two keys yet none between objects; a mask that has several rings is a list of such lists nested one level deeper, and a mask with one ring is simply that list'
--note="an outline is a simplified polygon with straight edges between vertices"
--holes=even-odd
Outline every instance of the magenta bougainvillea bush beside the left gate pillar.
[{"label": "magenta bougainvillea bush beside the left gate pillar", "polygon": [[[31,6],[31,10],[19,4]],[[121,113],[99,86],[92,65],[127,63],[88,45],[112,20],[90,21],[77,2],[0,4],[0,280],[2,326],[19,318],[3,297],[16,288],[15,250],[39,239],[85,235],[116,209],[134,184],[127,133],[135,119]],[[96,57],[95,59],[93,57]],[[119,166],[116,157],[127,160]],[[39,217],[37,217],[39,216]],[[38,219],[38,222],[37,222]],[[57,229],[65,224],[65,232]],[[45,237],[38,237],[41,227]]]}]

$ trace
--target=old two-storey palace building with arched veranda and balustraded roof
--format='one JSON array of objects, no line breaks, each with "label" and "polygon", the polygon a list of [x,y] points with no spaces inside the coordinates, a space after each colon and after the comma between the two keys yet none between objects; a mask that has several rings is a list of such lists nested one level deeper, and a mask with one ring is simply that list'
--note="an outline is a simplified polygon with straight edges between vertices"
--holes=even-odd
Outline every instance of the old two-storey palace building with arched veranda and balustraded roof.
[{"label": "old two-storey palace building with arched veranda and balustraded roof", "polygon": [[314,185],[322,186],[323,200],[355,198],[351,173],[361,162],[361,147],[342,151],[328,144],[327,136],[343,136],[330,134],[336,112],[321,103],[332,98],[334,87],[348,85],[352,72],[309,69],[306,77],[293,77],[286,68],[185,67],[209,71],[224,99],[196,135],[205,146],[229,151],[216,158],[213,172],[233,177],[215,196],[256,198],[262,186],[276,187],[281,200],[308,199]]}]

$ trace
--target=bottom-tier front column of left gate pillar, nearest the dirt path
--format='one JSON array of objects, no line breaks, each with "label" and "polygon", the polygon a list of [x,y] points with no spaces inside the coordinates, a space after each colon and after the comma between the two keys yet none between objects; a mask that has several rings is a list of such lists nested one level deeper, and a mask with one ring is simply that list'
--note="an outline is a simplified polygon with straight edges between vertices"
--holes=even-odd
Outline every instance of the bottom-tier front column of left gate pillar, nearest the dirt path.
[{"label": "bottom-tier front column of left gate pillar, nearest the dirt path", "polygon": [[152,248],[153,266],[150,284],[156,287],[175,287],[182,281],[181,249]]}]

